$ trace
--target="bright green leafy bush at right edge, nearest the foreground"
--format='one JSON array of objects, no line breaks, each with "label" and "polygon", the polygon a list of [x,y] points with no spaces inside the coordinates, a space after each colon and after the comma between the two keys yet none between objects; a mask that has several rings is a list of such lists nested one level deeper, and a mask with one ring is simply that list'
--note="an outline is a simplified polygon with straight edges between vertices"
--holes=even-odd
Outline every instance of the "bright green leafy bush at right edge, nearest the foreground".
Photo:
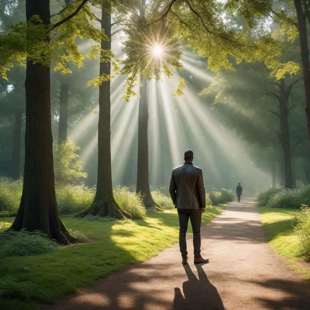
[{"label": "bright green leafy bush at right edge, nearest the foreground", "polygon": [[310,260],[310,208],[308,205],[301,206],[301,212],[297,212],[293,220],[294,231],[299,238],[301,255]]}]

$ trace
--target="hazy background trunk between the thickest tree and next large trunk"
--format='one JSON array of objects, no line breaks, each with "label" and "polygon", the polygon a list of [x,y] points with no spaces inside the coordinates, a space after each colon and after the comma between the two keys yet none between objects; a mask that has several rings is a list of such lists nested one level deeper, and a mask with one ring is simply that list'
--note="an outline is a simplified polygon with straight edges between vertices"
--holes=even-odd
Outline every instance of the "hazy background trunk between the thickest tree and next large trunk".
[{"label": "hazy background trunk between the thickest tree and next large trunk", "polygon": [[58,144],[67,140],[69,81],[66,75],[60,77]]}]

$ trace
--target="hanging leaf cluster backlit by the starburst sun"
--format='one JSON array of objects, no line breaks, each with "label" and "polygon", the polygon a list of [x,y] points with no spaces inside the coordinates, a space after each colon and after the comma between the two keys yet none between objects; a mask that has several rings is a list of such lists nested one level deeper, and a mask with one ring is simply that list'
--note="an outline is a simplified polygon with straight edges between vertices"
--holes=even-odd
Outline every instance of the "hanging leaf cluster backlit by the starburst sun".
[{"label": "hanging leaf cluster backlit by the starburst sun", "polygon": [[[126,27],[127,40],[122,51],[126,59],[122,62],[122,74],[129,75],[126,79],[126,93],[123,98],[129,101],[131,96],[137,95],[133,88],[137,84],[139,75],[145,80],[157,81],[162,78],[162,73],[171,78],[175,69],[182,70],[182,52],[179,41],[173,37],[172,29],[163,23],[148,25],[145,18],[140,18],[137,24]],[[162,55],[157,57],[153,48],[160,46]],[[178,85],[179,94],[182,92],[184,81]]]}]

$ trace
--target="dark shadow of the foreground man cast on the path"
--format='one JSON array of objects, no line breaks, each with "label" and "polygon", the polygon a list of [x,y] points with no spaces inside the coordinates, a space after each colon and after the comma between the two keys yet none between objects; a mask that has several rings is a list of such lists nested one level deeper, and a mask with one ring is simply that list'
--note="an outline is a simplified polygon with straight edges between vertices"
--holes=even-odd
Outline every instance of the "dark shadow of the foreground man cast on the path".
[{"label": "dark shadow of the foreground man cast on the path", "polygon": [[188,281],[183,283],[183,294],[179,287],[175,288],[173,310],[224,310],[222,299],[213,286],[202,265],[195,265],[198,279],[188,264],[184,265]]}]

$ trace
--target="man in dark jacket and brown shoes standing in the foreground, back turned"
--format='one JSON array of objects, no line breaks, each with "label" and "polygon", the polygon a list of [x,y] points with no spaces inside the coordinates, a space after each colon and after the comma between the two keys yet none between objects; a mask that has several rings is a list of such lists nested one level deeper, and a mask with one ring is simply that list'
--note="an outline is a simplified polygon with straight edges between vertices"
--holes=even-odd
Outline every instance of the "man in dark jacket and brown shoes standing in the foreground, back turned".
[{"label": "man in dark jacket and brown shoes standing in the foreground, back turned", "polygon": [[169,192],[175,208],[178,210],[180,233],[179,245],[182,264],[187,263],[186,231],[188,219],[193,228],[194,263],[208,263],[200,255],[201,214],[206,210],[206,193],[203,184],[202,170],[193,165],[192,150],[184,153],[184,164],[172,170]]}]

